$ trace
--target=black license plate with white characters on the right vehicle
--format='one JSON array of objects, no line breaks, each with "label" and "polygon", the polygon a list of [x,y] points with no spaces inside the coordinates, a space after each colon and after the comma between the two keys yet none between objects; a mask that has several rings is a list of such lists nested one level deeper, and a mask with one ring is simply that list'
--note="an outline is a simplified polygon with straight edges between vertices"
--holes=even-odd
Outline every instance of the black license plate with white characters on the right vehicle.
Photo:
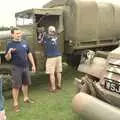
[{"label": "black license plate with white characters on the right vehicle", "polygon": [[120,82],[115,80],[105,80],[105,89],[120,94]]}]

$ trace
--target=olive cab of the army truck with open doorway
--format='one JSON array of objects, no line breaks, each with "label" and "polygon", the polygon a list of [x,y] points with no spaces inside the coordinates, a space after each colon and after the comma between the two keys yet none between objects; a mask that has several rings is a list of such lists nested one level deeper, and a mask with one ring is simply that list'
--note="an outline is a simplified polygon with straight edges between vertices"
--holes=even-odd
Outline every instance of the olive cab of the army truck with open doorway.
[{"label": "olive cab of the army truck with open doorway", "polygon": [[25,38],[32,49],[38,71],[44,71],[45,55],[43,46],[38,43],[39,29],[44,27],[45,32],[50,25],[56,27],[60,39],[60,50],[64,51],[63,10],[61,8],[29,9],[15,14],[16,26],[23,31]]}]

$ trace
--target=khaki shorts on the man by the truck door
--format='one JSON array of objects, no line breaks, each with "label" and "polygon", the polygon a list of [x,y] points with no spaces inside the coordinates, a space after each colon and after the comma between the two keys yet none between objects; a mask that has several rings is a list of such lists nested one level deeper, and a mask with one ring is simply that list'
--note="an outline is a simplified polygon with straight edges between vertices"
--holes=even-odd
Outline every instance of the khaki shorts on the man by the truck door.
[{"label": "khaki shorts on the man by the truck door", "polygon": [[62,57],[51,57],[46,60],[46,73],[62,72]]}]

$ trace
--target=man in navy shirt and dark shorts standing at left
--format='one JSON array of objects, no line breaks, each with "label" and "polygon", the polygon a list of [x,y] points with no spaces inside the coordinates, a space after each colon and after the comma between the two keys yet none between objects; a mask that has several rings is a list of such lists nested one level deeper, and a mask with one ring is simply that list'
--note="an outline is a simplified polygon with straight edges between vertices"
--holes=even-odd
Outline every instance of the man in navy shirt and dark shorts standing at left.
[{"label": "man in navy shirt and dark shorts standing at left", "polygon": [[[29,45],[22,40],[22,31],[19,28],[11,29],[13,40],[7,45],[5,58],[12,63],[12,96],[13,110],[19,112],[18,95],[22,88],[24,103],[33,103],[28,95],[28,86],[31,84],[29,73],[29,61],[32,65],[32,72],[36,72],[35,62]],[[29,61],[28,61],[29,59]]]}]

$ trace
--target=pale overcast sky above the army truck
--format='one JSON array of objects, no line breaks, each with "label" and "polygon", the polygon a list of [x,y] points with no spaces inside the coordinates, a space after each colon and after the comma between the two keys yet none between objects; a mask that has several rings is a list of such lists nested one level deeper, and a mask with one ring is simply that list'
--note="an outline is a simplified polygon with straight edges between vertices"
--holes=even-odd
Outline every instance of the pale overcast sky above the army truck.
[{"label": "pale overcast sky above the army truck", "polygon": [[[41,8],[50,0],[1,0],[0,2],[0,26],[15,25],[15,13],[31,8]],[[98,0],[120,3],[120,0]]]}]

